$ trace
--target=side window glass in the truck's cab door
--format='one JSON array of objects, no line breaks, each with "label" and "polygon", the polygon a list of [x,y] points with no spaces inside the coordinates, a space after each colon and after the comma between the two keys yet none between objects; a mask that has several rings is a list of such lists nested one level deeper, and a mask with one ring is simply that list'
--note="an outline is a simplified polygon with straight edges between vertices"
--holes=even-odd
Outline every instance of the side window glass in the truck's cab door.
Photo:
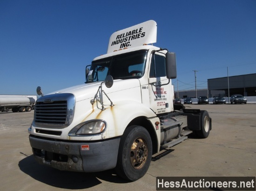
[{"label": "side window glass in the truck's cab door", "polygon": [[165,57],[153,54],[150,64],[149,77],[163,77],[166,76],[165,71]]}]

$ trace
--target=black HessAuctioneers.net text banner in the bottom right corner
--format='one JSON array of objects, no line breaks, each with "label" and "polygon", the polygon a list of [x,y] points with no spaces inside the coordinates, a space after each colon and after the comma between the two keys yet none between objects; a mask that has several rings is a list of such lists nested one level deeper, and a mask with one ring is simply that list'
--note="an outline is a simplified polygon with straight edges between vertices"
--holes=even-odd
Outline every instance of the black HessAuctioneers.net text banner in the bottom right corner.
[{"label": "black HessAuctioneers.net text banner in the bottom right corner", "polygon": [[255,191],[256,177],[156,177],[157,191]]}]

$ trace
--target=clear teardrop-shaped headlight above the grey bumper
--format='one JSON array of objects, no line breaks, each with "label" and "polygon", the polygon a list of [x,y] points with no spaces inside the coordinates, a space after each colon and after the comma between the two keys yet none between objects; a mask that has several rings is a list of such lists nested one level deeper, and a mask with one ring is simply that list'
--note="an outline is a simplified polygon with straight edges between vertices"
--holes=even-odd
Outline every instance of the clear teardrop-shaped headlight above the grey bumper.
[{"label": "clear teardrop-shaped headlight above the grey bumper", "polygon": [[103,120],[91,120],[83,122],[75,126],[69,133],[68,136],[79,136],[79,135],[96,135],[101,134],[107,127],[106,121]]}]

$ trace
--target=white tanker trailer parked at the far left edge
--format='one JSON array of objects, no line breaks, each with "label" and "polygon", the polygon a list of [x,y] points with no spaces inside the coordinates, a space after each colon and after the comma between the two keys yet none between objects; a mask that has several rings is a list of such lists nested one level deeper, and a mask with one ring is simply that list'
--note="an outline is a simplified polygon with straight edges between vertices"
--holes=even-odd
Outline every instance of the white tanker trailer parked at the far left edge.
[{"label": "white tanker trailer parked at the far left edge", "polygon": [[34,107],[36,96],[0,96],[0,111],[13,112],[31,111]]}]

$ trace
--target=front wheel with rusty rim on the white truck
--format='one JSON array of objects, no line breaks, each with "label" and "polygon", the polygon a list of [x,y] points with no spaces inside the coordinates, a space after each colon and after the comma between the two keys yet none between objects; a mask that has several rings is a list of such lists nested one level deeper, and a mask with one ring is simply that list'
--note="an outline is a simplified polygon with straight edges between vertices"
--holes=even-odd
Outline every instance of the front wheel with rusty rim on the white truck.
[{"label": "front wheel with rusty rim on the white truck", "polygon": [[152,141],[141,126],[130,126],[121,137],[115,170],[130,181],[138,180],[148,171],[152,157]]}]

